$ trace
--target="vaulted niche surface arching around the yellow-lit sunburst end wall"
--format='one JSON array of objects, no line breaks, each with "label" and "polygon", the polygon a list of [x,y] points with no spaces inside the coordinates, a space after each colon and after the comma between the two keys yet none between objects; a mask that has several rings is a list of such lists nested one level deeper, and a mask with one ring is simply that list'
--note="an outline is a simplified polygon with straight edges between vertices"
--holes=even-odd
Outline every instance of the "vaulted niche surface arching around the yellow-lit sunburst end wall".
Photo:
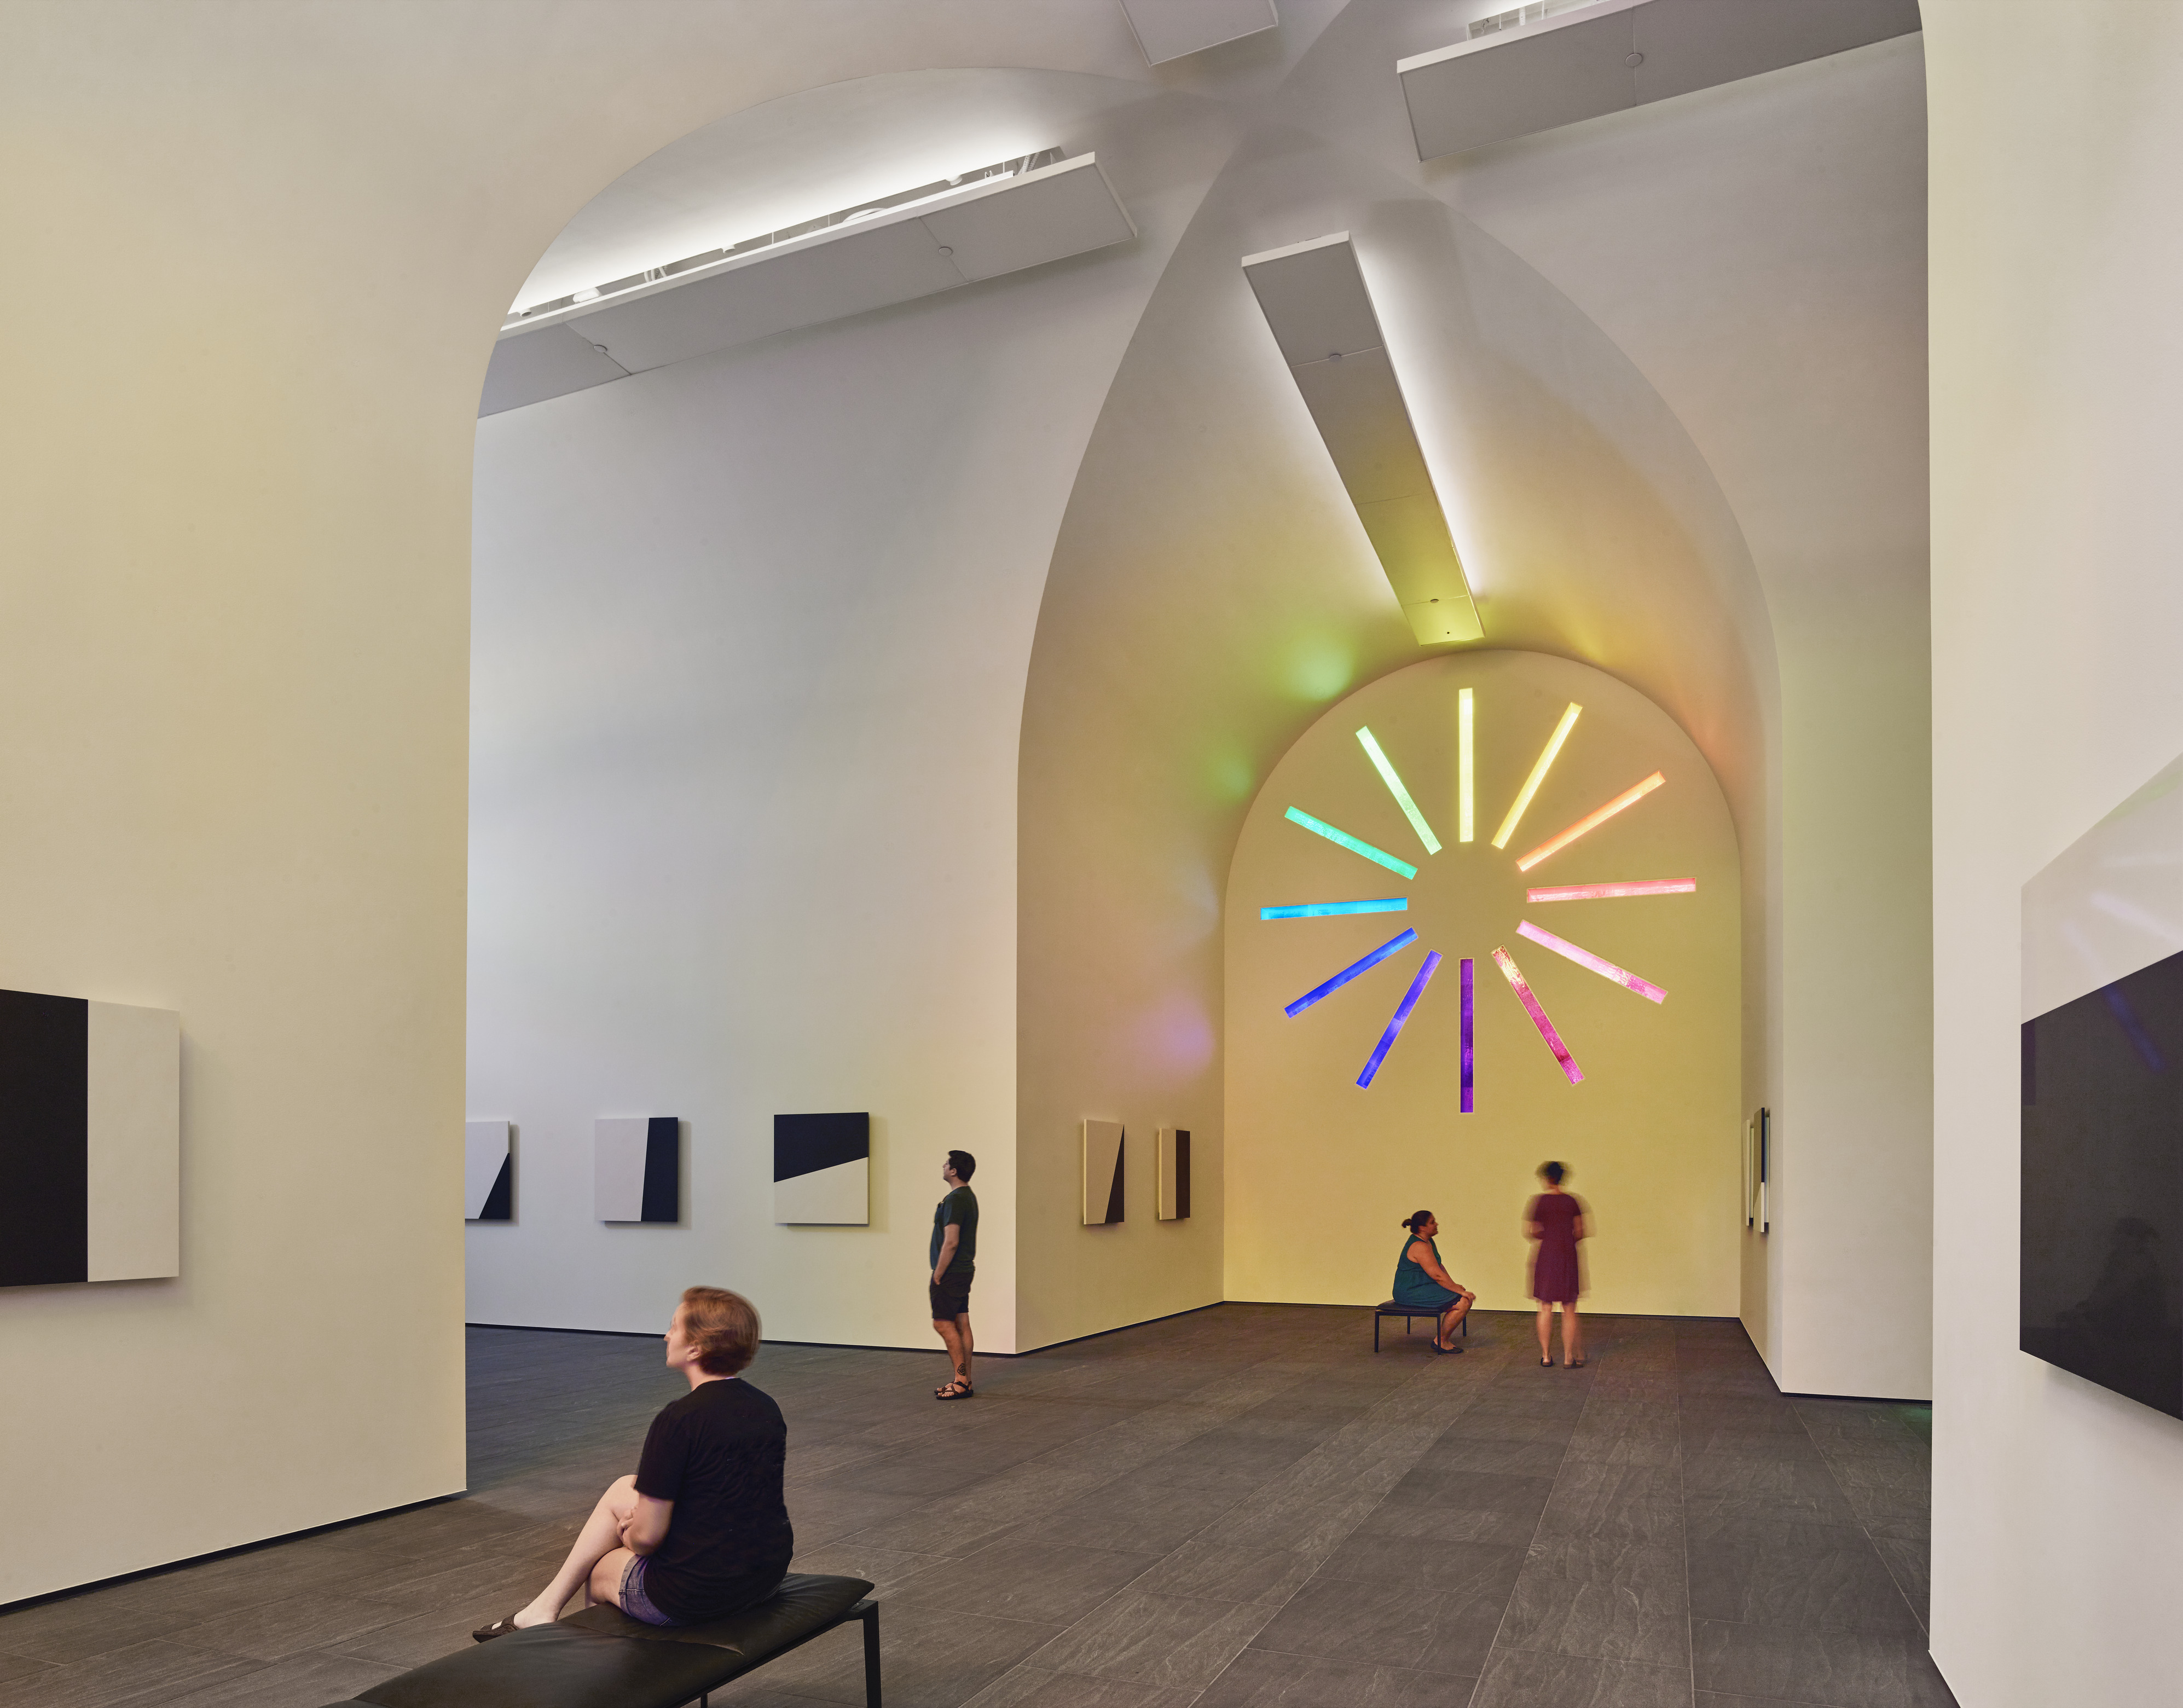
[{"label": "vaulted niche surface arching around the yellow-lit sunburst end wall", "polygon": [[[1054,548],[1019,754],[1024,1341],[1222,1297],[1222,909],[1246,806],[1334,701],[1419,660],[1240,258],[1347,229],[1495,647],[1605,671],[1720,780],[1764,898],[1777,695],[1742,533],[1690,435],[1556,288],[1415,183],[1255,131],[1166,266]],[[1766,933],[1740,1075],[1766,1048]],[[1194,1142],[1203,1225],[1076,1225],[1076,1125]],[[1142,1147],[1142,1149],[1135,1149]],[[1415,1208],[1415,1206],[1408,1206]],[[1214,1219],[1209,1219],[1214,1212]],[[1399,1212],[1397,1212],[1399,1214]],[[1375,1260],[1377,1262],[1377,1260]],[[1735,1310],[1733,1289],[1701,1289]]]}]

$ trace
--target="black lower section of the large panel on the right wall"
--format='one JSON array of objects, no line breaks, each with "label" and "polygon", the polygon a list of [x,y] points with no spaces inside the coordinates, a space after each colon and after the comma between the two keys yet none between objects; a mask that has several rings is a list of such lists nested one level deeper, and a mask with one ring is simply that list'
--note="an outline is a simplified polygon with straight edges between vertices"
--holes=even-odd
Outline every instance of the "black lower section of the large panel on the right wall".
[{"label": "black lower section of the large panel on the right wall", "polygon": [[2183,954],[2024,1022],[2017,1345],[2183,1418]]}]

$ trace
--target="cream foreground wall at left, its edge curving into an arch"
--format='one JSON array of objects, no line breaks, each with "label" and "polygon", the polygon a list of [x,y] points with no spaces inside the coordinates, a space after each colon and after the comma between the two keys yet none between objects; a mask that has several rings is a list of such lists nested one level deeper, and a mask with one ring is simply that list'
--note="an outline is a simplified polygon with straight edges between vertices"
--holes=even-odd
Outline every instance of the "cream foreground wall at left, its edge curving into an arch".
[{"label": "cream foreground wall at left, its edge curving into an arch", "polygon": [[[0,1601],[463,1485],[478,387],[600,186],[1111,7],[0,7],[0,983],[183,1018],[183,1276],[0,1297]],[[389,116],[399,122],[389,122]],[[135,266],[87,266],[116,247]],[[341,1310],[301,1369],[297,1302]],[[85,1407],[114,1350],[162,1404]]]}]

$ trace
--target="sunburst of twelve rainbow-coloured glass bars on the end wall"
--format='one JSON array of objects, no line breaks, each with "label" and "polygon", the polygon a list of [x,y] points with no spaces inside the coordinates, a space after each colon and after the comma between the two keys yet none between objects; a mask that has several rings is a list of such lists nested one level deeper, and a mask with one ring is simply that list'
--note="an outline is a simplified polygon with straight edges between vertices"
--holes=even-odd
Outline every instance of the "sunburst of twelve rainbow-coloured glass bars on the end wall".
[{"label": "sunburst of twelve rainbow-coloured glass bars on the end wall", "polygon": [[[1530,810],[1532,799],[1537,797],[1539,788],[1546,784],[1548,773],[1554,769],[1554,760],[1561,756],[1561,749],[1567,745],[1570,736],[1576,732],[1576,723],[1578,723],[1578,716],[1583,714],[1583,710],[1585,710],[1583,705],[1578,705],[1578,703],[1572,701],[1567,705],[1567,710],[1561,714],[1561,721],[1554,725],[1554,732],[1548,736],[1546,747],[1539,751],[1539,758],[1532,762],[1530,773],[1524,778],[1524,786],[1517,791],[1515,799],[1508,804],[1508,810],[1506,810],[1506,815],[1500,821],[1500,828],[1493,832],[1491,847],[1493,847],[1495,854],[1506,852],[1511,839],[1515,837],[1517,828],[1524,821],[1524,815]],[[1474,782],[1474,738],[1476,738],[1476,723],[1478,723],[1478,705],[1474,701],[1471,690],[1463,688],[1463,690],[1458,690],[1458,697],[1456,697],[1456,727],[1458,727],[1458,734],[1456,734],[1456,843],[1458,843],[1458,847],[1465,845],[1465,843],[1471,843],[1476,839],[1476,810],[1474,810],[1474,802],[1476,802],[1476,782]],[[1441,854],[1443,852],[1441,839],[1434,834],[1432,823],[1425,819],[1423,810],[1417,804],[1417,797],[1410,793],[1408,784],[1401,780],[1401,771],[1397,769],[1395,758],[1386,751],[1384,743],[1369,727],[1360,727],[1356,732],[1356,738],[1358,738],[1358,747],[1362,747],[1362,751],[1364,751],[1364,758],[1371,762],[1371,769],[1377,771],[1380,780],[1386,784],[1388,793],[1395,797],[1395,806],[1399,806],[1404,819],[1408,819],[1410,830],[1417,834],[1417,841],[1421,843],[1425,858],[1430,861],[1432,856]],[[1537,847],[1530,847],[1528,852],[1515,856],[1515,861],[1513,861],[1515,869],[1519,874],[1528,874],[1532,867],[1543,865],[1546,861],[1554,858],[1563,850],[1567,850],[1574,843],[1583,841],[1587,834],[1591,834],[1594,830],[1598,830],[1609,819],[1613,819],[1613,817],[1618,817],[1618,815],[1622,815],[1622,813],[1639,806],[1648,795],[1653,795],[1653,791],[1663,788],[1666,782],[1668,782],[1668,778],[1661,771],[1655,771],[1653,775],[1642,778],[1639,782],[1631,784],[1629,788],[1624,788],[1613,799],[1602,802],[1591,813],[1583,815],[1574,823],[1570,823],[1563,830],[1554,832],[1552,837],[1548,837]],[[1343,830],[1340,826],[1327,823],[1325,819],[1316,817],[1314,813],[1305,813],[1301,806],[1290,806],[1288,813],[1286,813],[1286,819],[1288,819],[1288,823],[1295,823],[1301,830],[1310,830],[1314,837],[1323,837],[1325,841],[1334,843],[1336,847],[1347,850],[1349,854],[1356,854],[1358,858],[1371,861],[1375,867],[1382,867],[1382,871],[1393,871],[1404,882],[1410,882],[1410,880],[1417,878],[1419,867],[1412,865],[1401,854],[1391,854],[1384,847],[1375,847],[1373,843],[1364,841],[1362,837],[1353,837],[1347,830]],[[1526,906],[1543,906],[1543,904],[1550,904],[1550,902],[1633,900],[1633,898],[1653,898],[1653,895],[1690,895],[1690,893],[1696,891],[1696,887],[1698,885],[1696,885],[1694,878],[1615,878],[1615,880],[1607,880],[1607,882],[1535,887],[1535,889],[1526,889],[1524,891],[1524,900],[1526,900]],[[1404,895],[1386,895],[1386,898],[1375,898],[1375,900],[1364,900],[1364,902],[1284,902],[1284,904],[1277,904],[1277,906],[1262,906],[1260,909],[1260,920],[1325,920],[1325,917],[1351,917],[1351,915],[1360,915],[1360,913],[1406,913],[1408,906],[1410,906],[1410,902]],[[1565,961],[1574,961],[1576,965],[1585,968],[1587,972],[1596,972],[1602,978],[1607,978],[1607,981],[1611,981],[1615,985],[1622,985],[1622,989],[1626,989],[1626,992],[1631,992],[1635,996],[1642,996],[1648,1003],[1666,1003],[1668,1000],[1668,992],[1661,989],[1659,985],[1655,985],[1650,978],[1644,978],[1644,976],[1631,972],[1629,968],[1615,965],[1605,954],[1596,954],[1594,950],[1583,948],[1580,944],[1572,944],[1567,937],[1561,937],[1559,933],[1546,930],[1543,926],[1537,926],[1530,920],[1519,920],[1517,926],[1515,926],[1515,935],[1524,937],[1530,944],[1537,944],[1539,948],[1552,950],[1554,954],[1563,957]],[[1305,1009],[1316,1007],[1319,1003],[1323,1003],[1327,996],[1332,996],[1334,992],[1343,989],[1351,981],[1367,976],[1369,972],[1377,970],[1380,965],[1384,965],[1388,961],[1397,961],[1410,948],[1419,948],[1421,941],[1423,939],[1419,937],[1419,933],[1415,928],[1399,930],[1397,935],[1388,937],[1384,944],[1380,944],[1369,954],[1360,957],[1358,961],[1351,961],[1347,968],[1340,968],[1338,972],[1334,972],[1323,983],[1319,983],[1312,989],[1303,992],[1303,996],[1299,996],[1297,1000],[1286,1003],[1284,1005],[1284,1013],[1288,1013],[1295,1020]],[[1460,1088],[1463,1088],[1460,1107],[1463,1107],[1463,1114],[1471,1114],[1474,1112],[1474,1061],[1476,1061],[1476,1037],[1474,1037],[1474,1018],[1476,1018],[1474,1016],[1474,961],[1471,961],[1471,957],[1456,957],[1456,959],[1458,959],[1458,970],[1456,970],[1456,992],[1458,992],[1458,998],[1456,1000],[1460,1003]],[[1576,1057],[1570,1053],[1567,1042],[1554,1029],[1554,1022],[1548,1016],[1546,1005],[1539,1000],[1539,994],[1530,987],[1530,981],[1524,976],[1522,968],[1515,963],[1515,957],[1508,952],[1506,944],[1493,946],[1491,952],[1489,952],[1489,959],[1493,961],[1495,968],[1500,968],[1502,976],[1508,983],[1508,992],[1522,1005],[1524,1016],[1530,1020],[1532,1029],[1539,1033],[1539,1042],[1546,1044],[1546,1048],[1552,1053],[1556,1066],[1567,1077],[1567,1081],[1572,1086],[1583,1083],[1583,1079],[1585,1079],[1583,1068],[1576,1066]],[[1377,1079],[1380,1068],[1386,1064],[1388,1053],[1395,1048],[1397,1040],[1401,1037],[1404,1027],[1410,1022],[1410,1016],[1417,1011],[1419,1003],[1425,998],[1425,994],[1428,994],[1428,989],[1432,985],[1434,974],[1441,970],[1441,963],[1443,963],[1443,950],[1425,946],[1425,959],[1417,968],[1417,972],[1410,978],[1408,987],[1404,989],[1401,1000],[1395,1005],[1395,1013],[1388,1018],[1386,1031],[1382,1031],[1377,1044],[1373,1044],[1373,1051],[1371,1051],[1371,1055],[1364,1061],[1364,1070],[1358,1075],[1358,1081],[1356,1081],[1358,1088],[1371,1088],[1373,1079]]]}]

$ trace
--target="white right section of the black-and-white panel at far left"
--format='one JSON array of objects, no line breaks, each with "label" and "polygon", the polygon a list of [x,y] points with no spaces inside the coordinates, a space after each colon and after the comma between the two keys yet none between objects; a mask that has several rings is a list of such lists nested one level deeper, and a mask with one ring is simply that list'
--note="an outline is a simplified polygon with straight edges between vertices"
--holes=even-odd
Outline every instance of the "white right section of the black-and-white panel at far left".
[{"label": "white right section of the black-and-white panel at far left", "polygon": [[85,1280],[181,1273],[181,1016],[92,1003]]}]

